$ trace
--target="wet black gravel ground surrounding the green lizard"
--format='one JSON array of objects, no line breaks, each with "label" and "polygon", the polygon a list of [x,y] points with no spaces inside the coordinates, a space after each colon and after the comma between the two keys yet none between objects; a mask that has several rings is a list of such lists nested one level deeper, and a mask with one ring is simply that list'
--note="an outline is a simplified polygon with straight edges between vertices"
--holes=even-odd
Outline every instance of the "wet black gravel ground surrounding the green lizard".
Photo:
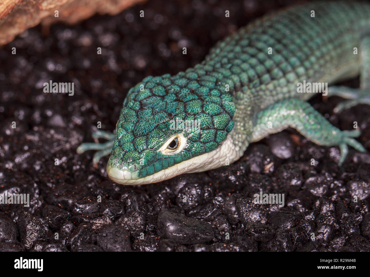
[{"label": "wet black gravel ground surrounding the green lizard", "polygon": [[[337,147],[289,129],[230,166],[141,186],[112,182],[108,157],[94,168],[92,151],[75,153],[98,121],[114,129],[144,77],[194,66],[217,40],[295,2],[149,1],[78,26],[38,26],[1,48],[0,194],[29,193],[30,207],[0,205],[0,251],[369,251],[369,153],[350,149],[338,167]],[[43,93],[50,80],[74,82],[74,96]],[[370,150],[370,107],[335,115],[339,101],[310,102],[342,130],[357,121]],[[284,194],[285,205],[254,204],[259,191]]]}]

